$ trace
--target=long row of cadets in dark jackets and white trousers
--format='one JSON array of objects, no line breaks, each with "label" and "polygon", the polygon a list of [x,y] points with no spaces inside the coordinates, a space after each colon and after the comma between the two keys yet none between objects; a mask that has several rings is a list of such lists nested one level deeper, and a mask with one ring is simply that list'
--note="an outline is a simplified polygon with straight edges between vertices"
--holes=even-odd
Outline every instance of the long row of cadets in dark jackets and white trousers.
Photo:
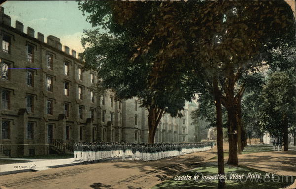
[{"label": "long row of cadets in dark jackets and white trousers", "polygon": [[74,160],[83,162],[99,161],[107,158],[121,158],[125,161],[126,156],[132,160],[158,160],[166,157],[174,157],[186,153],[210,150],[215,143],[74,143]]}]

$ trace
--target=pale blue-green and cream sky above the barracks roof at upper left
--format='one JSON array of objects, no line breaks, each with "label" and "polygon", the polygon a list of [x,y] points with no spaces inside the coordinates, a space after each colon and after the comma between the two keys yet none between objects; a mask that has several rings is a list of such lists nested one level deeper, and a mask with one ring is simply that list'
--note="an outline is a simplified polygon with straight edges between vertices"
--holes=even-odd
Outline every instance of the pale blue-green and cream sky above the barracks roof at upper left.
[{"label": "pale blue-green and cream sky above the barracks roof at upper left", "polygon": [[[81,36],[83,29],[92,29],[86,21],[86,16],[78,9],[76,1],[6,1],[1,4],[5,8],[4,13],[11,17],[11,25],[15,27],[18,20],[24,24],[24,32],[27,27],[47,36],[53,35],[61,39],[62,45],[70,49],[83,52]],[[64,47],[62,47],[64,50]]]}]

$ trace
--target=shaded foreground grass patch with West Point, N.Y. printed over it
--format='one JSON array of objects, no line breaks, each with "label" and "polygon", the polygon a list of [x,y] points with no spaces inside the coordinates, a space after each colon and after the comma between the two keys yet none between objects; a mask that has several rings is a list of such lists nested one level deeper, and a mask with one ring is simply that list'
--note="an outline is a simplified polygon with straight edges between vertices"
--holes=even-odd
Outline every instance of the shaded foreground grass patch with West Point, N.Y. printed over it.
[{"label": "shaded foreground grass patch with West Point, N.Y. printed over it", "polygon": [[[199,166],[190,171],[179,174],[178,176],[191,176],[190,180],[175,180],[176,177],[164,181],[153,189],[217,189],[218,180],[206,181],[204,180],[194,180],[194,175],[203,174],[204,176],[217,175],[218,168],[217,162],[204,162],[200,163]],[[288,176],[288,179],[284,177],[282,179],[281,175],[274,175],[273,178],[265,178],[267,172],[260,171],[257,169],[252,169],[245,166],[232,166],[225,165],[225,173],[227,175],[226,188],[227,189],[278,189],[291,185],[296,177]],[[247,175],[250,174],[261,174],[259,179],[248,178]],[[242,179],[230,179],[230,174],[242,175]],[[283,181],[282,181],[283,180]]]}]

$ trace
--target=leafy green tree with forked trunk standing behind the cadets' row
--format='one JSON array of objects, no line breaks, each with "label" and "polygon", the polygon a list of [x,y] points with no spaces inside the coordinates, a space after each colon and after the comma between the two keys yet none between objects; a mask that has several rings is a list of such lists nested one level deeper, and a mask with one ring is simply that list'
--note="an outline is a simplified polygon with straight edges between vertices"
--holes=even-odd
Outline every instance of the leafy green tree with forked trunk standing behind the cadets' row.
[{"label": "leafy green tree with forked trunk standing behind the cadets' row", "polygon": [[[151,22],[154,19],[153,7],[160,3],[128,4],[139,15],[125,25],[122,25],[122,17],[118,15],[121,13],[117,12],[121,8],[120,4],[127,5],[126,2],[79,2],[82,11],[91,13],[89,21],[94,26],[101,25],[108,30],[106,33],[99,29],[84,31],[82,44],[86,48],[83,53],[85,69],[98,70],[100,83],[96,87],[100,91],[111,89],[118,99],[140,99],[141,106],[148,110],[148,142],[154,143],[162,114],[181,116],[180,110],[183,109],[185,100],[191,100],[193,92],[185,78],[186,68],[176,64],[185,63],[182,56],[166,58],[163,61],[170,64],[159,66],[156,57],[162,48],[161,42],[139,54],[141,47],[137,44],[142,42],[142,38],[155,35],[142,22]],[[176,7],[180,8],[182,5],[179,3]],[[159,36],[155,38],[164,40]]]}]

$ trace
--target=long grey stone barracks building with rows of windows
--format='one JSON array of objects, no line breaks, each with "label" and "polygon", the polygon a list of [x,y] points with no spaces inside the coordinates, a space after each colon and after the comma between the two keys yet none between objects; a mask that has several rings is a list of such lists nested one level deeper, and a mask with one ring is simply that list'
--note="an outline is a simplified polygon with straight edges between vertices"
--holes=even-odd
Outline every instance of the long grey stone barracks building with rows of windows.
[{"label": "long grey stone barracks building with rows of windows", "polygon": [[[98,96],[89,91],[97,74],[83,71],[76,51],[62,47],[55,36],[45,43],[33,28],[25,33],[19,21],[12,27],[3,7],[0,59],[0,154],[64,153],[74,141],[148,142],[148,111],[136,98],[119,102],[111,92]],[[182,118],[165,114],[155,141],[195,142],[194,107],[186,102]]]}]

